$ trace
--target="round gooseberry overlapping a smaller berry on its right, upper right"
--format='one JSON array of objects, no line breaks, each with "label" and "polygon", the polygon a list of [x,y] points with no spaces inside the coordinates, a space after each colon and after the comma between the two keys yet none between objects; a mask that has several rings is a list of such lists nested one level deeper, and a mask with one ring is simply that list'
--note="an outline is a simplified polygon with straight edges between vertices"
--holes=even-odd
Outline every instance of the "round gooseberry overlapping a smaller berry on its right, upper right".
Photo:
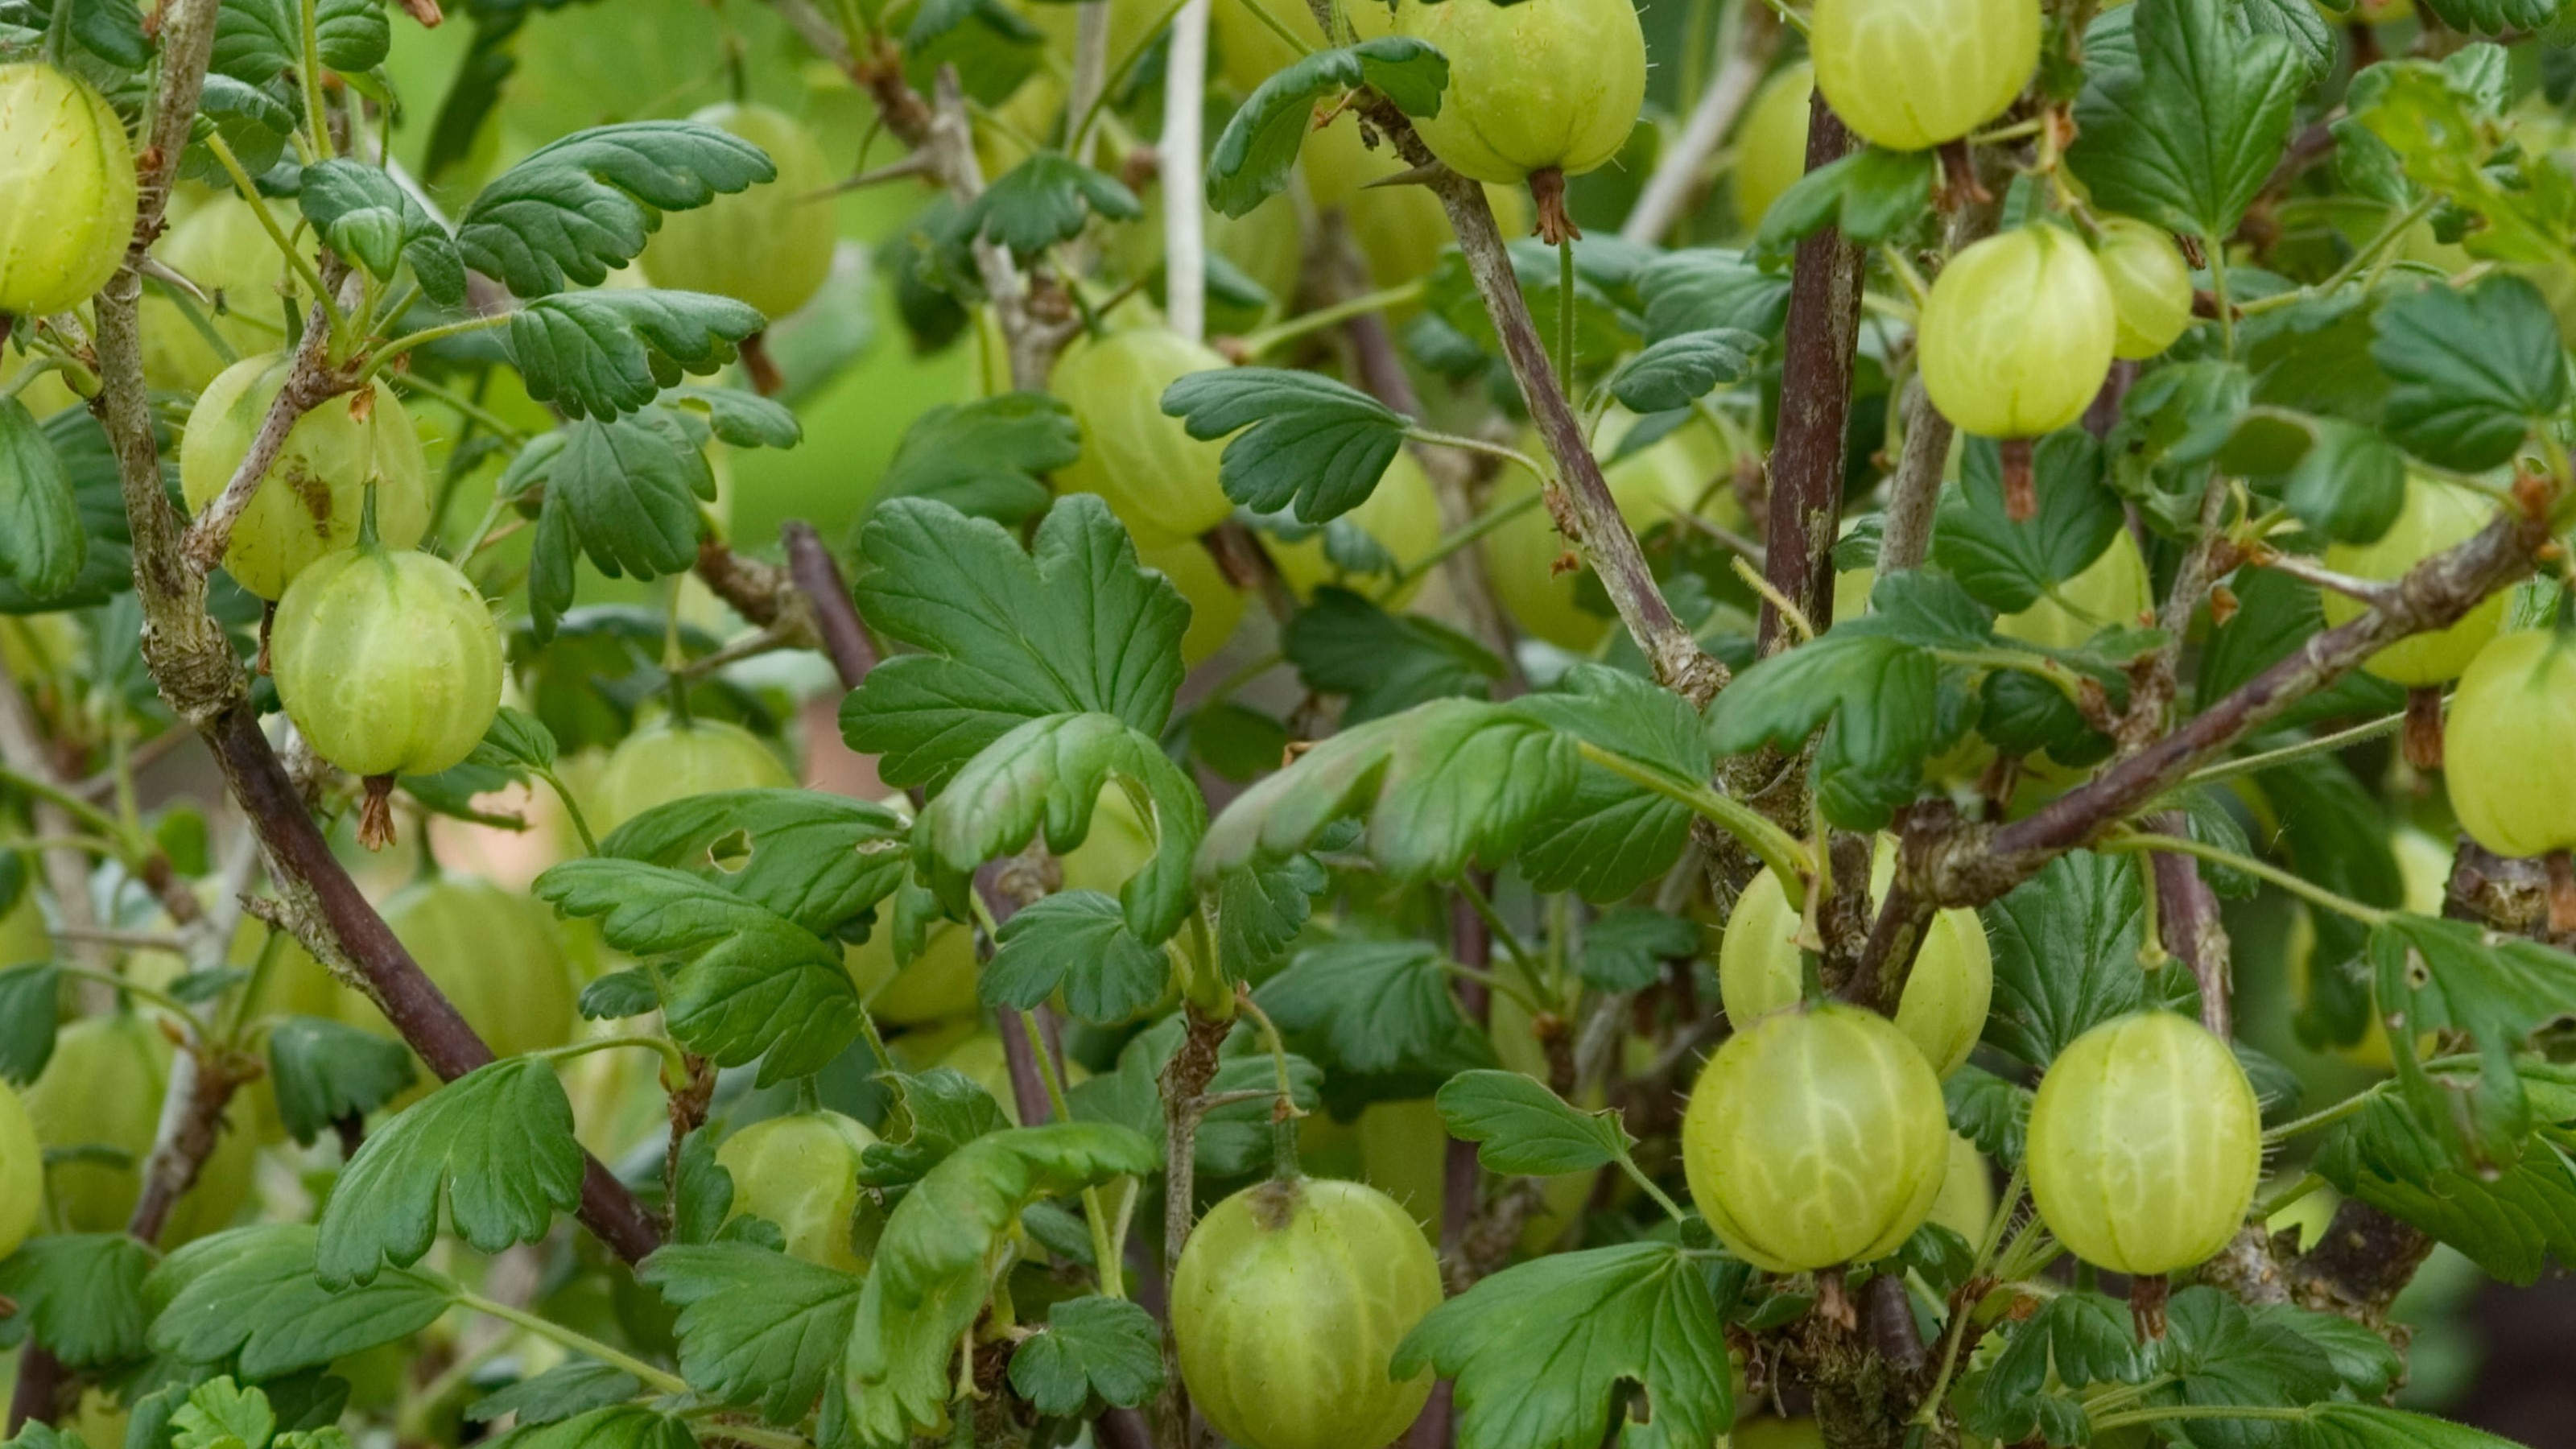
[{"label": "round gooseberry overlapping a smaller berry on its right, upper right", "polygon": [[2038,438],[2084,418],[2110,376],[2120,317],[2102,263],[2030,224],[1950,258],[1914,330],[1924,392],[1981,438]]}]

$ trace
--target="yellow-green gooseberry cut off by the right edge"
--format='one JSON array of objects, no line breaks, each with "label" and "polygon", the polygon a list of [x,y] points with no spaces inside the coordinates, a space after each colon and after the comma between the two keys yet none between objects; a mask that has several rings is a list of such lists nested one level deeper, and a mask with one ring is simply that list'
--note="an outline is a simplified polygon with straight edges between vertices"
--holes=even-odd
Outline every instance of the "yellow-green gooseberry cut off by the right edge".
[{"label": "yellow-green gooseberry cut off by the right edge", "polygon": [[2470,841],[2499,856],[2576,846],[2576,634],[2504,634],[2450,696],[2442,781]]}]

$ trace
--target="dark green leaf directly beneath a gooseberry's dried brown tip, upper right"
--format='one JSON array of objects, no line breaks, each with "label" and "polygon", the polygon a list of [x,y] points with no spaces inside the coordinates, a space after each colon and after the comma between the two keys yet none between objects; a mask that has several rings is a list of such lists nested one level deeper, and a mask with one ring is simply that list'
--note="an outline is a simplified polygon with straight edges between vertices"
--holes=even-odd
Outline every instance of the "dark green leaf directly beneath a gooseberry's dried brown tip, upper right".
[{"label": "dark green leaf directly beneath a gooseberry's dried brown tip, upper right", "polygon": [[1968,438],[1955,490],[1942,490],[1932,562],[1999,614],[2030,608],[2076,578],[2128,523],[2120,498],[2102,487],[2102,446],[2081,428],[2040,438],[2032,449],[2040,511],[2014,523],[2004,511],[2004,469],[1991,438]]}]

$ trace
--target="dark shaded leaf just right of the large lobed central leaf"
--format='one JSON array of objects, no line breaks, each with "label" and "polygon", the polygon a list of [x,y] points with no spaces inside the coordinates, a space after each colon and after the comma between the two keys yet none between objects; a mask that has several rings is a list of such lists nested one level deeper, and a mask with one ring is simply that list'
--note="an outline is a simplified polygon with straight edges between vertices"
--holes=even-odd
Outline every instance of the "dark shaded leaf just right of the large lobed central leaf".
[{"label": "dark shaded leaf just right of the large lobed central leaf", "polygon": [[1316,694],[1342,694],[1342,724],[1365,724],[1430,699],[1484,699],[1510,668],[1476,639],[1419,614],[1388,614],[1319,585],[1280,629],[1280,652]]}]

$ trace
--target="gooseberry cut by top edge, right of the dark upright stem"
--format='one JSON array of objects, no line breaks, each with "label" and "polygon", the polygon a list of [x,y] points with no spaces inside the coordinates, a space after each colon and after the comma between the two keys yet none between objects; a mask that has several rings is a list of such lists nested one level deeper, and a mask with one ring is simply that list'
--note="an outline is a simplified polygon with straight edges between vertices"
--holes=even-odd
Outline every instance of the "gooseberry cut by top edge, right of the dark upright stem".
[{"label": "gooseberry cut by top edge, right of the dark upright stem", "polygon": [[2040,0],[1816,0],[1806,49],[1852,134],[1919,152],[2022,95],[2040,64]]}]

